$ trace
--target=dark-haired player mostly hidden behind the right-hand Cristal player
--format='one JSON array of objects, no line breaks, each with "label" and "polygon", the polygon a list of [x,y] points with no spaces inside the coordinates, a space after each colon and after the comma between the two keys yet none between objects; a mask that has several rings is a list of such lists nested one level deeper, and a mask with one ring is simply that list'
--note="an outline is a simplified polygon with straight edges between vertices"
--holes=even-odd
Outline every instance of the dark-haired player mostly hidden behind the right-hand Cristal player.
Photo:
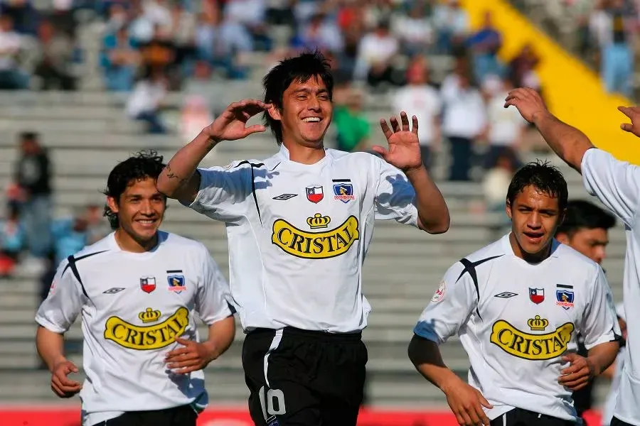
[{"label": "dark-haired player mostly hidden behind the right-hand Cristal player", "polygon": [[[609,244],[609,229],[615,225],[616,218],[592,202],[572,200],[567,203],[565,219],[558,226],[555,239],[600,264],[604,260],[607,244]],[[577,354],[580,356],[588,354],[580,334]],[[573,393],[573,405],[579,417],[592,408],[594,383],[595,380],[592,380],[580,391]],[[586,424],[584,418],[582,421]]]}]

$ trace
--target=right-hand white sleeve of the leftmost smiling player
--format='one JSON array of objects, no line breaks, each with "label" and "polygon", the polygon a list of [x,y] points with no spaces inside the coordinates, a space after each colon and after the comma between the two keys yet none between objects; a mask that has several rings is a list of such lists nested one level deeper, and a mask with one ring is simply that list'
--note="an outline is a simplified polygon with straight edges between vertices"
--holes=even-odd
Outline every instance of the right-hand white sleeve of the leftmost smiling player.
[{"label": "right-hand white sleeve of the leftmost smiling player", "polygon": [[211,325],[233,315],[229,305],[231,295],[227,280],[208,253],[203,260],[203,267],[203,280],[196,294],[196,311],[205,324]]}]

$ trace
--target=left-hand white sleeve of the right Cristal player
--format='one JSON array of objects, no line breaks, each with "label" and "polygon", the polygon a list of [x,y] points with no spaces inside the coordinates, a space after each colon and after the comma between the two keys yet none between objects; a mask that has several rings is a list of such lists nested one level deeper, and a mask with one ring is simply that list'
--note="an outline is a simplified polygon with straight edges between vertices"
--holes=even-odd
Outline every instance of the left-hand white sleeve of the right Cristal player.
[{"label": "left-hand white sleeve of the right Cristal player", "polygon": [[442,344],[469,322],[476,309],[476,288],[462,263],[456,263],[444,274],[431,302],[422,311],[413,332]]}]

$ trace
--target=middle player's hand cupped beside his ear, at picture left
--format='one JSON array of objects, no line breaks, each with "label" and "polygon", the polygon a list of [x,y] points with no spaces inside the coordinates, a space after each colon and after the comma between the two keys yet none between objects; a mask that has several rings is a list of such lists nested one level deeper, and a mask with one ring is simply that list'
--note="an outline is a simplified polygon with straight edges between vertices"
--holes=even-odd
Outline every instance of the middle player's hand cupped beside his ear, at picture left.
[{"label": "middle player's hand cupped beside his ear, at picture left", "polygon": [[230,104],[205,131],[215,141],[235,141],[246,138],[252,133],[267,130],[262,124],[247,127],[252,116],[270,109],[270,104],[255,99],[245,99]]}]

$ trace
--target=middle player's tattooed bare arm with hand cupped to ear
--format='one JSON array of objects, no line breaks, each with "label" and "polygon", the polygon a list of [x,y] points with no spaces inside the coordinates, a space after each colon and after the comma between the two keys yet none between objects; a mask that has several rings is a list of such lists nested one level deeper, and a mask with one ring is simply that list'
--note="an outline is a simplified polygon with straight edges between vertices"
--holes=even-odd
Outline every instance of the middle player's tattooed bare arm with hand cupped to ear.
[{"label": "middle player's tattooed bare arm with hand cupped to ear", "polygon": [[253,99],[230,104],[218,119],[171,158],[158,178],[158,190],[181,202],[191,203],[196,200],[201,180],[197,168],[203,158],[220,141],[235,141],[252,133],[265,131],[265,126],[260,124],[250,127],[246,124],[252,116],[268,108],[264,102]]}]

